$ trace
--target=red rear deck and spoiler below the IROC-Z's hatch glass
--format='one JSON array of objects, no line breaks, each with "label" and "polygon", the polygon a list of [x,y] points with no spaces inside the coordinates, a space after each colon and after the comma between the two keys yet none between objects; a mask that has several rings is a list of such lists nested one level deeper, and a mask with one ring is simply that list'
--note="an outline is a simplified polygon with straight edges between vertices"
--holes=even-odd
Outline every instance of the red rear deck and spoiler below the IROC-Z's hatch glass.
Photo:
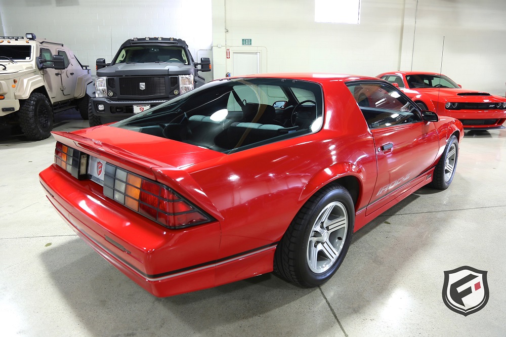
[{"label": "red rear deck and spoiler below the IROC-Z's hatch glass", "polygon": [[90,154],[129,161],[146,168],[176,167],[184,170],[196,163],[226,156],[198,146],[140,132],[100,125],[74,131],[53,132],[57,140],[71,139]]}]

